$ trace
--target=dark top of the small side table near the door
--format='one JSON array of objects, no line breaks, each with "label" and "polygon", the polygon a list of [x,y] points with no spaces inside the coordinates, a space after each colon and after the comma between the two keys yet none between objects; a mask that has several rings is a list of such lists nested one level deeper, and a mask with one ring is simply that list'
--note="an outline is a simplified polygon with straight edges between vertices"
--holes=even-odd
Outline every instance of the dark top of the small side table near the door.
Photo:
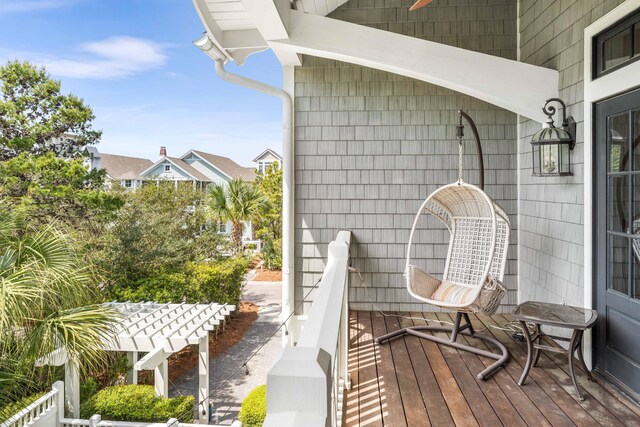
[{"label": "dark top of the small side table near the door", "polygon": [[589,329],[598,318],[598,313],[589,308],[527,301],[516,307],[512,317],[514,320],[540,325],[560,326],[571,329]]}]

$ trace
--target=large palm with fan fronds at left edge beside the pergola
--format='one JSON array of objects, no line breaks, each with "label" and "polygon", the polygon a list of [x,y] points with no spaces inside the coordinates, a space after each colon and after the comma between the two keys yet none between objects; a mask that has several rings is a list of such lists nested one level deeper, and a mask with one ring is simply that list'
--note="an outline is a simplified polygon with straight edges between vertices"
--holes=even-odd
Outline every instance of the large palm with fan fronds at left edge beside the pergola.
[{"label": "large palm with fan fronds at left edge beside the pergola", "polygon": [[82,372],[102,362],[118,317],[94,303],[90,277],[53,224],[34,229],[0,210],[0,408],[51,379],[35,366],[54,350],[65,349]]}]

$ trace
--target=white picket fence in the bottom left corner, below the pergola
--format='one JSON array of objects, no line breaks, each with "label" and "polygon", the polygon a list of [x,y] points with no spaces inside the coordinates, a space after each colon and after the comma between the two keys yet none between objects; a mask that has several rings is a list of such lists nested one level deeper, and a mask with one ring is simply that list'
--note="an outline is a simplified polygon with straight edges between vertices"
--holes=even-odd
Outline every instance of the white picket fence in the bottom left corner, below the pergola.
[{"label": "white picket fence in the bottom left corner, below the pergola", "polygon": [[[235,424],[232,424],[232,427]],[[179,423],[172,418],[166,423],[136,423],[125,421],[103,421],[100,415],[88,420],[65,418],[64,382],[57,381],[51,391],[18,412],[0,427],[199,427],[199,424]]]}]

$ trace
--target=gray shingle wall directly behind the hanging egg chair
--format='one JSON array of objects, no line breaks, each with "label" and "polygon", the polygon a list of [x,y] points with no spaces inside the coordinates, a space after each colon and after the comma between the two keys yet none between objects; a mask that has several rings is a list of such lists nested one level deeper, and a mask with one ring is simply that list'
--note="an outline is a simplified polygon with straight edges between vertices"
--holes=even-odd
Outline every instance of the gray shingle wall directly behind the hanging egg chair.
[{"label": "gray shingle wall directly behind the hanging egg chair", "polygon": [[[479,4],[484,3],[484,4]],[[515,59],[516,2],[438,0],[408,13],[403,0],[352,0],[333,18]],[[394,74],[305,57],[296,69],[296,299],[320,278],[327,244],[353,231],[354,309],[429,310],[407,293],[402,277],[415,212],[429,193],[457,178],[457,110],[476,121],[483,141],[487,192],[511,215],[514,232],[506,269],[516,303],[516,116],[485,102]],[[467,181],[477,162],[467,127]],[[422,224],[416,254],[442,272],[448,233]]]}]

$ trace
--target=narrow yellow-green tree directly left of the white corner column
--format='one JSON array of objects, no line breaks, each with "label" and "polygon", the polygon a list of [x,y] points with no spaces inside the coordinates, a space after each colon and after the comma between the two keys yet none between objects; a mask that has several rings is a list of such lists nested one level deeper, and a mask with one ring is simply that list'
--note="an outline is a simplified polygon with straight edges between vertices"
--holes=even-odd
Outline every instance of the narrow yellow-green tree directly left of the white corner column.
[{"label": "narrow yellow-green tree directly left of the white corner column", "polygon": [[256,185],[267,199],[257,223],[257,235],[262,240],[262,253],[268,268],[282,267],[282,168],[271,164],[258,174]]}]

